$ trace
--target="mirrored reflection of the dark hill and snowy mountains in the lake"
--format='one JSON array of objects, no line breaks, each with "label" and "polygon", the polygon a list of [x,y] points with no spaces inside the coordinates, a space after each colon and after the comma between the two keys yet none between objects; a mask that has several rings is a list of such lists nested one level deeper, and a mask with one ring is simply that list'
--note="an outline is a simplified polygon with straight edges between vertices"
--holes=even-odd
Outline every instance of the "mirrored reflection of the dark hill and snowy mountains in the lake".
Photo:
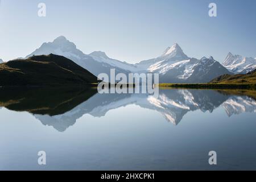
[{"label": "mirrored reflection of the dark hill and snowy mountains in the lake", "polygon": [[93,88],[0,88],[0,107],[28,111],[43,125],[65,131],[84,114],[104,117],[112,109],[138,105],[158,111],[177,125],[189,111],[212,113],[222,106],[229,117],[256,112],[254,90],[160,89],[159,97],[148,94],[99,94]]}]

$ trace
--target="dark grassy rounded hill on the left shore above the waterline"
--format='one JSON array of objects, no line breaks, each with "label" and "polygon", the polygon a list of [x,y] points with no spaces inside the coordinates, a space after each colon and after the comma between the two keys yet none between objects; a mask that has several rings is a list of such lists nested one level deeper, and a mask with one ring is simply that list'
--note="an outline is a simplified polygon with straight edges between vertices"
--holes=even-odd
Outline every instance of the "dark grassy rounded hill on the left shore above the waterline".
[{"label": "dark grassy rounded hill on the left shore above the waterline", "polygon": [[0,64],[0,86],[64,86],[95,83],[97,77],[57,55],[32,56]]}]

